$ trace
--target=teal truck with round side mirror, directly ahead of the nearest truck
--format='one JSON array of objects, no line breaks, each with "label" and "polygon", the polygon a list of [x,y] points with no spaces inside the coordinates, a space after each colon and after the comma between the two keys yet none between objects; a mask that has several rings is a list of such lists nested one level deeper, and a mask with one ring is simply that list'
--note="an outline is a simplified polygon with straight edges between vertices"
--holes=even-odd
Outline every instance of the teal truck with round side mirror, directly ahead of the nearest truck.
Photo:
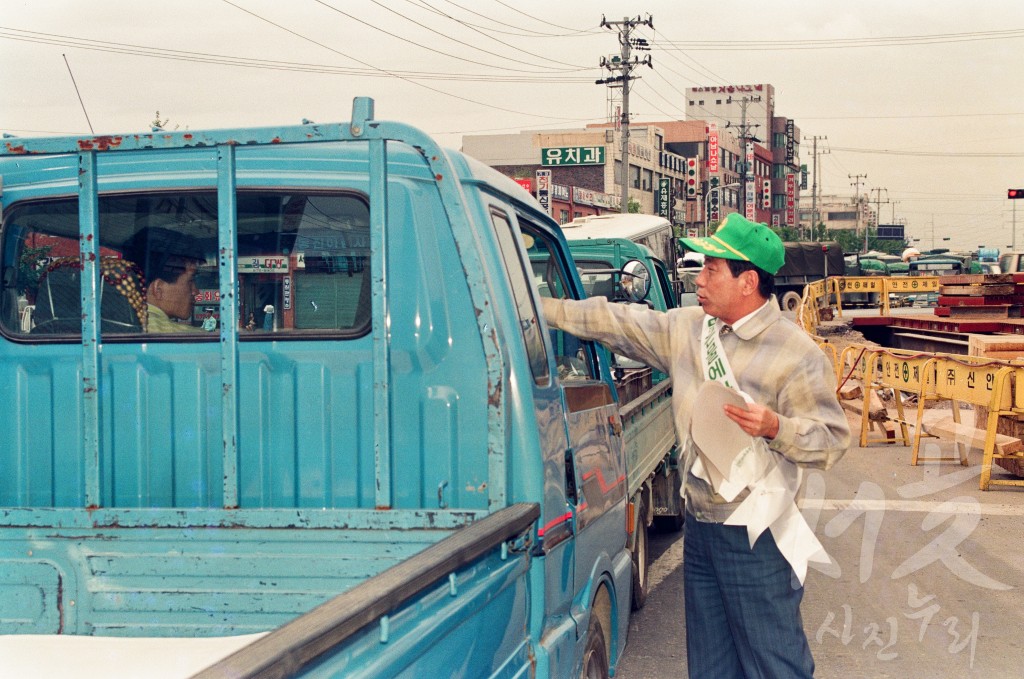
[{"label": "teal truck with round side mirror, directly ahead of the nearest truck", "polygon": [[[588,296],[645,303],[666,311],[677,306],[676,285],[666,261],[675,261],[672,224],[655,215],[612,213],[562,224],[569,252]],[[645,296],[635,294],[643,281]],[[542,286],[543,290],[543,286]],[[683,525],[679,448],[667,375],[625,356],[611,356],[623,407],[627,486],[631,507],[633,607],[647,599],[648,531],[656,522],[670,531]]]}]

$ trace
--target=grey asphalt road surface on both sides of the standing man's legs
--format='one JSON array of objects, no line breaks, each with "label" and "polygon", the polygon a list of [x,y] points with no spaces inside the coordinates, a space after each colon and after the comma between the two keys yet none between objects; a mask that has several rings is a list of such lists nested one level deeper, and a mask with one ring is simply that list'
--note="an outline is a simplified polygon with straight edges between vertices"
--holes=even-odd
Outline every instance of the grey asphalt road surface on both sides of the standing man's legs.
[{"label": "grey asphalt road surface on both sides of the standing man's legs", "polygon": [[[872,445],[808,476],[804,514],[835,561],[804,596],[816,677],[1024,677],[1024,489],[979,491],[969,460],[912,467],[909,448]],[[616,679],[686,676],[682,545],[651,535]]]}]

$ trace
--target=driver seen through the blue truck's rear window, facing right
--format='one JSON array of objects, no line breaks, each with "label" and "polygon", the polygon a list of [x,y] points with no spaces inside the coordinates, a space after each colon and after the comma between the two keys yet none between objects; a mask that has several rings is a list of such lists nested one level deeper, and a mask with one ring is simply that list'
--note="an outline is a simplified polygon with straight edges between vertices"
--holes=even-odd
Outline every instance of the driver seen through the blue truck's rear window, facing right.
[{"label": "driver seen through the blue truck's rear window, facing right", "polygon": [[206,261],[199,242],[186,234],[150,226],[136,232],[123,250],[145,275],[146,332],[202,332],[191,325],[199,294],[196,272]]}]

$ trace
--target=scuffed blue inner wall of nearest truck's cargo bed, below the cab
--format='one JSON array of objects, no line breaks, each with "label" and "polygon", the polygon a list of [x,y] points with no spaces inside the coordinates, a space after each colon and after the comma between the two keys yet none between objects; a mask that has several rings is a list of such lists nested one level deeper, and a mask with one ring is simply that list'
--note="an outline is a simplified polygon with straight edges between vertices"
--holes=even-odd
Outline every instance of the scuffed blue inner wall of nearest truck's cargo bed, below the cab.
[{"label": "scuffed blue inner wall of nearest truck's cargo bed, below the cab", "polygon": [[[393,510],[374,517],[372,512],[266,510],[241,512],[236,517],[240,527],[212,521],[207,527],[204,513],[177,512],[189,519],[179,527],[121,526],[115,513],[102,511],[90,526],[46,526],[37,520],[7,527],[0,533],[0,582],[19,594],[0,599],[0,632],[221,636],[266,631],[422,552],[452,535],[453,522],[460,520],[453,512]],[[254,513],[262,515],[262,523],[245,515]],[[122,515],[137,517],[137,512]],[[25,518],[15,510],[0,516],[8,525]],[[270,527],[271,517],[280,526]],[[264,527],[241,527],[241,521]],[[358,527],[335,527],[347,525]],[[409,529],[396,529],[399,525]],[[28,553],[25,545],[32,546]]]}]

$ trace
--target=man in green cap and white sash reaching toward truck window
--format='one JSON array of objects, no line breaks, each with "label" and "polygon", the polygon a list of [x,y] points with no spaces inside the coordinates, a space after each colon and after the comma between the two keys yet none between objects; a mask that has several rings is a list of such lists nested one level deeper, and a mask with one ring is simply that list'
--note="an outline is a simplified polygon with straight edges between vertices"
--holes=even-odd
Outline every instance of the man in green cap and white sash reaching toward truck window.
[{"label": "man in green cap and white sash reaching toward truck window", "polygon": [[[802,583],[808,562],[827,555],[795,495],[803,468],[828,469],[850,443],[835,374],[814,341],[782,317],[772,277],[785,249],[774,231],[731,214],[714,236],[683,243],[705,255],[700,308],[544,298],[544,315],[672,378],[686,500],[689,676],[811,677]],[[745,407],[702,407],[723,386]],[[736,427],[745,448],[719,469],[715,454],[728,437],[715,433]],[[709,428],[698,445],[698,430]]]}]

